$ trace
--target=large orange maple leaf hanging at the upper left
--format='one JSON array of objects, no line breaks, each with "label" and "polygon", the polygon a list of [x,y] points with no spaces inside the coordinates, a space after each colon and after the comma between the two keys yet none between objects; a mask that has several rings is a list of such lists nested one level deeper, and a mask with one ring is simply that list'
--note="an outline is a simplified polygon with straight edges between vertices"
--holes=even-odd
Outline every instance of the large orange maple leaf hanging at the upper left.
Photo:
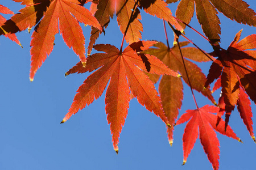
[{"label": "large orange maple leaf hanging at the upper left", "polygon": [[[14,15],[11,20],[19,28],[19,31],[31,28],[34,25],[35,31],[31,40],[31,69],[30,80],[34,79],[36,71],[42,66],[47,55],[53,50],[56,33],[63,36],[69,48],[79,55],[80,60],[85,64],[85,38],[79,22],[93,25],[100,30],[101,26],[92,13],[82,5],[84,1],[78,0],[14,0],[26,5],[19,14]],[[58,24],[59,23],[59,24]],[[59,25],[59,26],[58,26]]]}]

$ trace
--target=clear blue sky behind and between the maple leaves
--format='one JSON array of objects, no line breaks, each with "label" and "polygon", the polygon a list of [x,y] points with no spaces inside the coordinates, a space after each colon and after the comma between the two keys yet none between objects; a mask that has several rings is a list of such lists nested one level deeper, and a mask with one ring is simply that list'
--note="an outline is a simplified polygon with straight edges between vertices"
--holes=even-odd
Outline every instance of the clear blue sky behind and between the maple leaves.
[{"label": "clear blue sky behind and between the maple leaves", "polygon": [[[256,10],[254,0],[246,2]],[[0,1],[0,4],[14,12],[23,8],[11,0]],[[176,5],[170,6],[175,13]],[[9,18],[11,15],[5,16]],[[242,28],[242,38],[256,33],[255,27],[238,24],[222,14],[218,16],[221,19],[222,48],[227,48]],[[162,20],[142,12],[142,23],[143,40],[166,43]],[[202,32],[195,16],[191,25]],[[90,28],[83,27],[83,30],[88,46]],[[60,124],[77,88],[89,74],[73,74],[65,78],[64,73],[79,62],[79,57],[68,49],[60,35],[56,35],[53,52],[36,73],[34,82],[30,82],[31,34],[23,31],[16,35],[23,49],[0,36],[0,169],[212,169],[199,139],[187,163],[181,166],[185,126],[175,127],[174,145],[170,147],[162,120],[148,112],[136,99],[130,101],[118,155],[113,150],[106,121],[105,92],[89,107]],[[212,51],[208,42],[195,32],[186,29],[186,35],[200,48]],[[170,28],[168,36],[173,39]],[[106,36],[102,35],[97,44],[108,43],[119,48],[121,41],[122,34],[114,17],[106,29]],[[210,63],[203,65],[205,74],[209,66]],[[219,92],[214,94],[216,100]],[[196,99],[200,107],[210,104],[202,95],[196,94]],[[185,86],[180,115],[195,108],[191,92]],[[256,112],[254,104],[253,112]],[[221,145],[220,169],[253,169],[256,145],[237,111],[232,113],[229,124],[243,144],[217,133]]]}]

